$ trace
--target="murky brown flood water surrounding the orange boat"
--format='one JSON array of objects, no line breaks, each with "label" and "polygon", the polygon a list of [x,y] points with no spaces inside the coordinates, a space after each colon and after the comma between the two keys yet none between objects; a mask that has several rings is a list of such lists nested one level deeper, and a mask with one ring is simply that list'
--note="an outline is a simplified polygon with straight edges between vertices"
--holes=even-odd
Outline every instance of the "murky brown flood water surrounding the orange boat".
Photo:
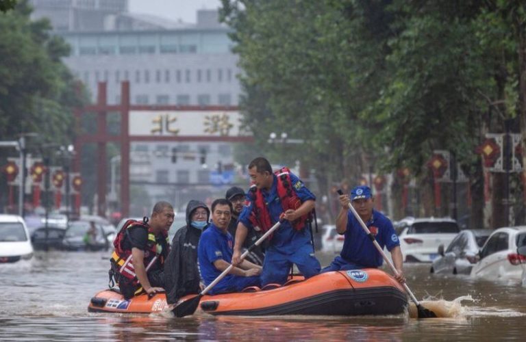
[{"label": "murky brown flood water surrounding the orange boat", "polygon": [[[333,255],[317,254],[322,265]],[[190,317],[88,313],[90,298],[108,286],[109,252],[36,252],[30,261],[0,265],[2,341],[498,341],[526,339],[526,287],[467,276],[429,274],[407,264],[419,300],[463,300],[454,317]]]}]

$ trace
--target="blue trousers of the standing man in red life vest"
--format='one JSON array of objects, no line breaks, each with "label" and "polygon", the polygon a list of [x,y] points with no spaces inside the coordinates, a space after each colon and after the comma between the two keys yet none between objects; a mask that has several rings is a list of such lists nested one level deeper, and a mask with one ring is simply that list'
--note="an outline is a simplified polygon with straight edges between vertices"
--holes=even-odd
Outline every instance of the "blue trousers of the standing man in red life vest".
[{"label": "blue trousers of the standing man in red life vest", "polygon": [[273,283],[283,285],[287,281],[288,272],[293,263],[297,265],[299,272],[305,278],[316,276],[321,269],[320,262],[314,257],[310,243],[303,244],[292,254],[286,254],[271,246],[266,250],[261,285]]}]

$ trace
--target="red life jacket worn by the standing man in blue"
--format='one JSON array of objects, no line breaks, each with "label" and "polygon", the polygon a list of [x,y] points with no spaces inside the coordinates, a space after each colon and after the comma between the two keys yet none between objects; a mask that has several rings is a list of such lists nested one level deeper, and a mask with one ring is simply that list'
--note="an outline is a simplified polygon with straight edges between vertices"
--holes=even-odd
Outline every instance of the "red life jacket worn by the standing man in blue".
[{"label": "red life jacket worn by the standing man in blue", "polygon": [[[288,168],[281,168],[274,172],[277,177],[277,196],[281,201],[281,207],[283,212],[288,209],[296,210],[301,206],[301,200],[296,194],[292,182],[290,181],[290,170]],[[254,202],[253,210],[250,214],[250,222],[256,231],[266,232],[270,229],[273,224],[271,222],[271,215],[268,213],[266,202],[263,197],[261,189],[252,185],[249,190],[249,195]],[[297,218],[293,222],[290,222],[292,228],[297,231],[305,228],[307,220],[310,218],[310,213]]]}]

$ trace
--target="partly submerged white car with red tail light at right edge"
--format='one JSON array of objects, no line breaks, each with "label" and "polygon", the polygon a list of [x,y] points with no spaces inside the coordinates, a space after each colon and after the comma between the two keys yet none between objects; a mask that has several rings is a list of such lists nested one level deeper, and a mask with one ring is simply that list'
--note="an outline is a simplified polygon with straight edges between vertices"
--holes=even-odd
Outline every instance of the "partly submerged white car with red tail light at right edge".
[{"label": "partly submerged white car with red tail light at right edge", "polygon": [[521,280],[526,272],[526,257],[518,248],[526,246],[526,226],[495,230],[479,252],[471,276],[486,280]]}]

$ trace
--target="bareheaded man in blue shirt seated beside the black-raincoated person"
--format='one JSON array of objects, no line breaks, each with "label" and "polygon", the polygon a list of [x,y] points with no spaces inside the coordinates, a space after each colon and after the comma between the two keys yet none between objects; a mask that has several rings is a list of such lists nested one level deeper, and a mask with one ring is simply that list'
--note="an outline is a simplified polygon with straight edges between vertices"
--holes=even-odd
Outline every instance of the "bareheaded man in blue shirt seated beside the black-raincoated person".
[{"label": "bareheaded man in blue shirt seated beside the black-raincoated person", "polygon": [[[201,276],[210,285],[227,267],[232,259],[232,235],[228,232],[232,205],[219,198],[212,203],[212,224],[201,234],[197,255]],[[261,267],[243,260],[208,292],[211,295],[239,292],[245,287],[260,286]]]}]

